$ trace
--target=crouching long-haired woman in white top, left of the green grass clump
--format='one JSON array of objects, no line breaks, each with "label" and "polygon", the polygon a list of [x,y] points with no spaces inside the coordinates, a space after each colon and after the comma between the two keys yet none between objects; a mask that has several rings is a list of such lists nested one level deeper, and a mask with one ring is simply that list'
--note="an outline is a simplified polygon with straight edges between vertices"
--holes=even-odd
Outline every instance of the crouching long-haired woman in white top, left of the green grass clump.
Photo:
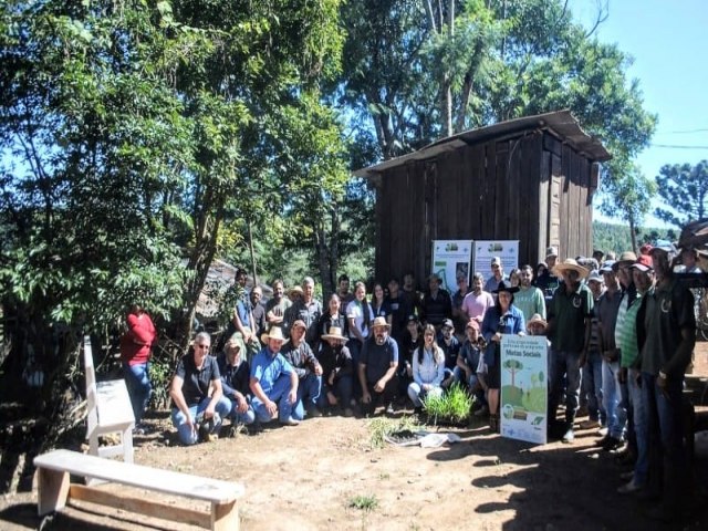
[{"label": "crouching long-haired woman in white top, left of the green grass clump", "polygon": [[423,345],[413,354],[413,382],[408,385],[408,396],[416,413],[423,409],[423,400],[428,394],[441,395],[445,377],[445,353],[435,341],[435,326],[423,329]]}]

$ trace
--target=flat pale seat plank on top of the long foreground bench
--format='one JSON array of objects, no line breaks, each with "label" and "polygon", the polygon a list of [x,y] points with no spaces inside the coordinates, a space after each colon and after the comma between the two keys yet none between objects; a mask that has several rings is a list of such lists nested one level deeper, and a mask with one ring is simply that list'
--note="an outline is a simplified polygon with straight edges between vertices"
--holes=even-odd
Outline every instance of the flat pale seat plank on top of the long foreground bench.
[{"label": "flat pale seat plank on top of the long foreground bench", "polygon": [[34,466],[39,469],[87,476],[217,504],[229,503],[243,496],[243,486],[231,481],[102,459],[71,450],[53,450],[38,456],[34,458]]}]

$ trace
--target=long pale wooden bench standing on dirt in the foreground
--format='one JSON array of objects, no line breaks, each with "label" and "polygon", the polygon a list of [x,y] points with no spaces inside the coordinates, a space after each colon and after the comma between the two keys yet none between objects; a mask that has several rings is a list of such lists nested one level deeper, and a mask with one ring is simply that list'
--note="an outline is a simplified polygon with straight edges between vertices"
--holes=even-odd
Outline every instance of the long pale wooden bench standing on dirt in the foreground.
[{"label": "long pale wooden bench standing on dirt in the foreground", "polygon": [[[59,511],[69,500],[74,499],[206,529],[239,529],[237,503],[243,496],[243,486],[239,483],[102,459],[71,450],[53,450],[38,456],[34,458],[34,466],[38,475],[40,516]],[[103,488],[71,485],[70,473],[208,501],[211,503],[211,512],[207,514],[145,497],[136,498],[108,492]]]}]

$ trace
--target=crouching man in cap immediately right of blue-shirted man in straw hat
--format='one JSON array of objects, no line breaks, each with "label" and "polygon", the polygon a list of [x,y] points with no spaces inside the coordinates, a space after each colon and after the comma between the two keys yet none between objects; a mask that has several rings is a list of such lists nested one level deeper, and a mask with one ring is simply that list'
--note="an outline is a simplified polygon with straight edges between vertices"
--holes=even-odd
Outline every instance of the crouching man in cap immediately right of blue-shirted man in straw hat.
[{"label": "crouching man in cap immediately right of blue-shirted man in straw hat", "polygon": [[322,365],[305,342],[306,330],[304,321],[298,320],[292,323],[290,341],[283,346],[282,353],[300,378],[298,402],[302,403],[306,415],[312,418],[322,416],[316,407],[322,392]]}]

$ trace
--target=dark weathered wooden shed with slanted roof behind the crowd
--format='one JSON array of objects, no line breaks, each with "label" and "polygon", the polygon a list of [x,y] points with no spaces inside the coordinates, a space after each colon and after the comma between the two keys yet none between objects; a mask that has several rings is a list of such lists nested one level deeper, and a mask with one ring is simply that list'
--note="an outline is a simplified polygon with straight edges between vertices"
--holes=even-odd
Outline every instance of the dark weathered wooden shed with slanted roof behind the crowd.
[{"label": "dark weathered wooden shed with slanted roof behind the crowd", "polygon": [[376,278],[429,274],[433,240],[519,240],[520,264],[592,253],[611,155],[569,111],[468,131],[355,175],[376,186]]}]

